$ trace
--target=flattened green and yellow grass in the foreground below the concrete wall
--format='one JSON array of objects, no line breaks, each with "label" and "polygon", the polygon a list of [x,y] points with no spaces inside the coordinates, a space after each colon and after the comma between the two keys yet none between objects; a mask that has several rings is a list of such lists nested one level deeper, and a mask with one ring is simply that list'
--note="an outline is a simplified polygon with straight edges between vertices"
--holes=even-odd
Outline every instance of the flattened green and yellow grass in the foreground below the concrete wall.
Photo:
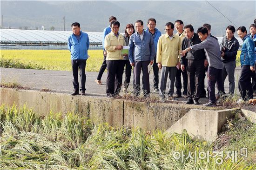
[{"label": "flattened green and yellow grass in the foreground below the concrete wall", "polygon": [[[256,124],[236,119],[227,124],[225,142],[209,144],[193,140],[186,131],[167,136],[163,131],[117,129],[93,125],[83,115],[47,113],[42,116],[23,107],[0,106],[0,168],[31,170],[254,170]],[[232,125],[231,125],[232,124]],[[246,128],[244,128],[246,125]],[[230,126],[230,127],[229,127]],[[236,132],[237,131],[237,132]],[[241,137],[237,137],[237,135]],[[232,139],[232,140],[231,140]],[[197,161],[191,152],[238,150],[248,147],[248,158],[237,155],[237,163],[209,156]],[[186,156],[174,157],[175,151]],[[249,158],[250,157],[250,158]],[[216,162],[218,162],[218,165]]]}]

